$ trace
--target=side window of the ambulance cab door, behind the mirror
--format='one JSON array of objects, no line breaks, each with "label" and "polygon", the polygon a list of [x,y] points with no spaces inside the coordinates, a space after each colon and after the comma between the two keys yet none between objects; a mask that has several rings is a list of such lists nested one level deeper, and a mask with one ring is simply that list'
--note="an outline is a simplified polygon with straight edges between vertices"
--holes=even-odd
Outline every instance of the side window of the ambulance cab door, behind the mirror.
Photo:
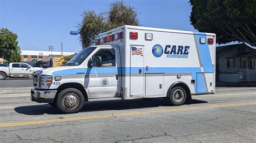
[{"label": "side window of the ambulance cab door, behind the mirror", "polygon": [[95,59],[96,56],[102,58],[101,67],[116,67],[116,56],[114,54],[114,49],[100,49],[92,56],[92,66],[96,66]]}]

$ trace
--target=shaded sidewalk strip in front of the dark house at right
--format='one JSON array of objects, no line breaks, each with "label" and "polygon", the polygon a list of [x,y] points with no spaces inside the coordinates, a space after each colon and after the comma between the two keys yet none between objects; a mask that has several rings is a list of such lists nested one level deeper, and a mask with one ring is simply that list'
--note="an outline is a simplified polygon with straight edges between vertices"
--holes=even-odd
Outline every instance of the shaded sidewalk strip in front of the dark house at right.
[{"label": "shaded sidewalk strip in front of the dark house at right", "polygon": [[217,82],[216,87],[256,87],[256,82]]}]

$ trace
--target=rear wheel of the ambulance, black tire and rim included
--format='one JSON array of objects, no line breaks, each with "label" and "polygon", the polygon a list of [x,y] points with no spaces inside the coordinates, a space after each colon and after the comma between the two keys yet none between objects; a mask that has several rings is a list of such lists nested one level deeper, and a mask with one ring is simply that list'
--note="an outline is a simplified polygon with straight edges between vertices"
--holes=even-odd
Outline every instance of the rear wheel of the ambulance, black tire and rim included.
[{"label": "rear wheel of the ambulance, black tire and rim included", "polygon": [[174,106],[183,105],[186,101],[186,98],[186,91],[182,87],[174,87],[169,93],[170,104]]}]

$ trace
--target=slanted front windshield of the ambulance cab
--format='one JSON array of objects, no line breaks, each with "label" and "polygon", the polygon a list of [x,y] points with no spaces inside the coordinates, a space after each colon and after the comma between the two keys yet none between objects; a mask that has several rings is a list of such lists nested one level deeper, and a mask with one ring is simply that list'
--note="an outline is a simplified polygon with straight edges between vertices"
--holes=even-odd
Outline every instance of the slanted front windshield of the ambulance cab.
[{"label": "slanted front windshield of the ambulance cab", "polygon": [[69,62],[66,63],[67,66],[77,66],[80,65],[89,56],[96,47],[87,47],[75,55]]}]

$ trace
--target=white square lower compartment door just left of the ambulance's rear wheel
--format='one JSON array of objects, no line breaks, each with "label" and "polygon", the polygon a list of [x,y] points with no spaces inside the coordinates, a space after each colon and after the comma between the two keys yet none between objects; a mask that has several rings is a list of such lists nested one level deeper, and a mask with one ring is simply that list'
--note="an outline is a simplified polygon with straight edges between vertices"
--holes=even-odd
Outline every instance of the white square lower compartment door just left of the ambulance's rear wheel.
[{"label": "white square lower compartment door just left of the ambulance's rear wheel", "polygon": [[164,74],[146,74],[146,96],[164,95]]}]

